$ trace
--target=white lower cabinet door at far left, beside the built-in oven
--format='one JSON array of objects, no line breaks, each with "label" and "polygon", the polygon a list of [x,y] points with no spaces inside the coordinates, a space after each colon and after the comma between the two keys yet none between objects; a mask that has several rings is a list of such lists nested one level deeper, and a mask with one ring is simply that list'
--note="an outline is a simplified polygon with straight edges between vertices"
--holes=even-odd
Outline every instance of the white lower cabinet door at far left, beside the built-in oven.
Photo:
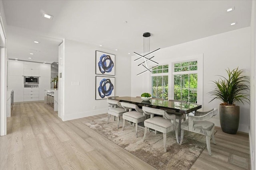
[{"label": "white lower cabinet door at far left, beside the built-in oven", "polygon": [[24,98],[24,77],[9,75],[9,89],[14,91],[14,102],[23,102]]}]

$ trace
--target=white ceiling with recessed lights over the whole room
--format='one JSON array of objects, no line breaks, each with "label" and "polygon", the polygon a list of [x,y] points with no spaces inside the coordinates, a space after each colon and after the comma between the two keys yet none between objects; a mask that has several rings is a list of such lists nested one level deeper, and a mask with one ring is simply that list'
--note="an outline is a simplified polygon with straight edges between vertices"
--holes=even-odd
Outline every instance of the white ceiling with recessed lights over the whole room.
[{"label": "white ceiling with recessed lights over the whole room", "polygon": [[[3,0],[3,6],[8,58],[52,63],[63,38],[132,56],[143,52],[144,32],[152,34],[150,50],[155,50],[248,27],[252,1]],[[43,18],[42,12],[54,18]]]}]

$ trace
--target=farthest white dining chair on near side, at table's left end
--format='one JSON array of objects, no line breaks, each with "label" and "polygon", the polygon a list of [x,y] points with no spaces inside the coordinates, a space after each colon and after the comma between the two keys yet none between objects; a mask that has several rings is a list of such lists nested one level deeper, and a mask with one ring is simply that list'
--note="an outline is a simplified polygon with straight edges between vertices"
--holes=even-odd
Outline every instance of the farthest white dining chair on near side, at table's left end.
[{"label": "farthest white dining chair on near side, at table's left end", "polygon": [[118,102],[116,100],[107,99],[107,102],[109,104],[109,106],[108,106],[108,122],[107,123],[109,123],[110,115],[113,115],[114,121],[116,121],[116,117],[117,117],[117,128],[119,129],[120,117],[123,115],[123,113],[126,112],[126,110],[121,106],[120,102]]}]

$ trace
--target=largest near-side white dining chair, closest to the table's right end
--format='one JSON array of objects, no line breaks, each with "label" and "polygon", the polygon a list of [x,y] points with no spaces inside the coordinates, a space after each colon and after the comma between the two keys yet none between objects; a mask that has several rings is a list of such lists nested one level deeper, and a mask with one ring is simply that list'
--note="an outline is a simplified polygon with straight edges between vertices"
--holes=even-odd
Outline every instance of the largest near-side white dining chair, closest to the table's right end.
[{"label": "largest near-side white dining chair, closest to the table's right end", "polygon": [[[167,133],[175,131],[176,140],[178,142],[178,129],[176,128],[175,115],[169,115],[165,110],[162,109],[154,109],[146,106],[142,106],[142,110],[145,114],[150,115],[150,118],[144,121],[145,131],[142,140],[145,140],[148,128],[162,132],[164,135],[164,152],[166,152]],[[160,116],[154,117],[154,115]]]}]

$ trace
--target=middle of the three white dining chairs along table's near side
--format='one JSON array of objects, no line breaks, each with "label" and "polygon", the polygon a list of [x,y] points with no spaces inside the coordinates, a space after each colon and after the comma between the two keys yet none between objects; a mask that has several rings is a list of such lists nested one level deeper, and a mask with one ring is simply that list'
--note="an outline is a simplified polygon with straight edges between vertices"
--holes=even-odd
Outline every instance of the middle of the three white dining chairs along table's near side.
[{"label": "middle of the three white dining chairs along table's near side", "polygon": [[[136,104],[130,104],[126,102],[120,102],[124,109],[129,110],[128,112],[123,113],[123,127],[124,130],[125,122],[130,121],[135,124],[135,135],[138,137],[138,123],[141,123],[145,120],[142,109],[140,109]],[[134,110],[132,110],[134,109]]]}]

